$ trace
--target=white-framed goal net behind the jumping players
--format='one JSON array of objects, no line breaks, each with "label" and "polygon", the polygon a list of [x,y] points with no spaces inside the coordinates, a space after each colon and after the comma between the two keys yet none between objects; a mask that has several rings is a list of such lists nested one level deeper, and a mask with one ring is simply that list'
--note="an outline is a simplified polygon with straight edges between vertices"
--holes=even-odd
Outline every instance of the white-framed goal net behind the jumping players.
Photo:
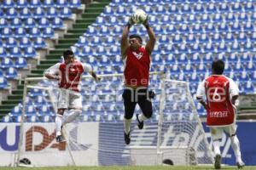
[{"label": "white-framed goal net behind the jumping players", "polygon": [[[123,75],[102,75],[101,82],[83,77],[83,111],[64,126],[67,142],[55,142],[57,82],[26,78],[19,151],[33,166],[174,165],[212,163],[212,152],[187,82],[150,74],[154,114],[138,129],[131,123],[131,144],[124,142]],[[67,116],[69,111],[65,111]],[[137,105],[135,114],[140,114]]]}]

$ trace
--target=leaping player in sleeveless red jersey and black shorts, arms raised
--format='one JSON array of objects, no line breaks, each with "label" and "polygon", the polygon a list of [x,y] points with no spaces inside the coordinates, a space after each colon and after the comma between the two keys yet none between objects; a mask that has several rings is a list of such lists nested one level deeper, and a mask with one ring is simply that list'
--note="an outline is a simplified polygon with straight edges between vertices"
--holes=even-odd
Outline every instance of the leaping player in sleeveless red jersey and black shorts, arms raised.
[{"label": "leaping player in sleeveless red jersey and black shorts, arms raised", "polygon": [[153,29],[148,25],[148,18],[143,22],[143,26],[148,31],[149,40],[143,47],[143,39],[139,35],[128,34],[132,25],[134,25],[133,17],[124,27],[121,37],[121,55],[125,65],[125,89],[123,93],[125,105],[125,144],[130,144],[130,125],[136,105],[138,104],[143,114],[137,115],[138,127],[143,128],[143,121],[152,116],[152,103],[150,101],[154,93],[148,93],[148,78],[150,68],[150,54],[153,51],[155,36]]}]

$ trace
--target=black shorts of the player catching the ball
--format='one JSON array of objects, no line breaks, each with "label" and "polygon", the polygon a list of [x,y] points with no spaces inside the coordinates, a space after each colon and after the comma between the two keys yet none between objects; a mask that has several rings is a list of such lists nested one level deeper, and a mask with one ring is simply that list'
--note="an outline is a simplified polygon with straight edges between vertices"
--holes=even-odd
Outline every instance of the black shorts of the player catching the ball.
[{"label": "black shorts of the player catching the ball", "polygon": [[143,111],[143,115],[150,118],[153,113],[152,102],[148,96],[148,89],[125,88],[123,93],[125,105],[125,119],[131,119],[138,104]]}]

